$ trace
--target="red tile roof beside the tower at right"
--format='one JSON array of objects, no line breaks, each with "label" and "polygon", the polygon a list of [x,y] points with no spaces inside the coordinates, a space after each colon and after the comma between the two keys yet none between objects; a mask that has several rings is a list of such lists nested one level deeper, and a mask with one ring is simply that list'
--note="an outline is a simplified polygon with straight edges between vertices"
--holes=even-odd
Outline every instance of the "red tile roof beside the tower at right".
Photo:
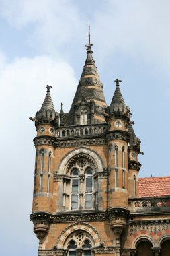
[{"label": "red tile roof beside the tower at right", "polygon": [[139,178],[139,197],[161,197],[170,195],[170,176]]}]

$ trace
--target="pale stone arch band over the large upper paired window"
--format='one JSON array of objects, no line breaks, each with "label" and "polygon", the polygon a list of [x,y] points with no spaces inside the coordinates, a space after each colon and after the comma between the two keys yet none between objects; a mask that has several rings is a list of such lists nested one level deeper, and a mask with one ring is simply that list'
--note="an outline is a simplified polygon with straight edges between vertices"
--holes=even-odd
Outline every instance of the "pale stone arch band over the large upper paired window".
[{"label": "pale stone arch band over the large upper paired window", "polygon": [[89,148],[79,147],[79,148],[76,148],[76,150],[71,150],[66,156],[64,156],[64,158],[62,158],[58,168],[58,173],[63,173],[65,171],[67,164],[69,164],[69,162],[73,158],[81,154],[84,154],[85,157],[91,158],[94,165],[96,166],[97,172],[103,171],[103,162],[99,154],[97,154],[95,151]]}]

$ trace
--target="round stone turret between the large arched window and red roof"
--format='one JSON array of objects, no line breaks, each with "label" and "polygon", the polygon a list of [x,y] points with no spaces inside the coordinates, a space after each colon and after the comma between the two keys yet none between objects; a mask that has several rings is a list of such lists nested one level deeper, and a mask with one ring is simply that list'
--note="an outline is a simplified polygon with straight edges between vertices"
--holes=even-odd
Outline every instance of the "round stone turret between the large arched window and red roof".
[{"label": "round stone turret between the large arched window and red roof", "polygon": [[108,215],[110,228],[119,236],[126,226],[128,211],[128,143],[130,134],[130,108],[120,92],[121,80],[116,79],[116,90],[110,106],[106,109],[108,122]]}]

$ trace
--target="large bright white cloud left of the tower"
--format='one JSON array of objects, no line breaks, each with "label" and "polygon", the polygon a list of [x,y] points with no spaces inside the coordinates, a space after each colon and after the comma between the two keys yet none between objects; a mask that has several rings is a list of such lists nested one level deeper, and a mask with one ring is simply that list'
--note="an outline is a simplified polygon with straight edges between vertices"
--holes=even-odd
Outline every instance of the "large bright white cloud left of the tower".
[{"label": "large bright white cloud left of the tower", "polygon": [[[1,223],[1,230],[4,230],[1,242],[6,250],[7,243],[12,241],[9,254],[18,256],[23,255],[24,247],[30,247],[30,244],[34,245],[34,252],[38,248],[29,220],[34,177],[32,139],[36,136],[36,127],[28,117],[34,117],[40,110],[46,96],[46,84],[53,86],[51,96],[56,110],[60,110],[61,101],[65,102],[65,110],[69,110],[77,85],[69,64],[48,56],[17,58],[7,63],[3,53],[0,54],[0,122],[3,131],[0,148],[3,210],[0,215],[2,220],[7,220]],[[25,254],[34,253],[28,250]]]}]

